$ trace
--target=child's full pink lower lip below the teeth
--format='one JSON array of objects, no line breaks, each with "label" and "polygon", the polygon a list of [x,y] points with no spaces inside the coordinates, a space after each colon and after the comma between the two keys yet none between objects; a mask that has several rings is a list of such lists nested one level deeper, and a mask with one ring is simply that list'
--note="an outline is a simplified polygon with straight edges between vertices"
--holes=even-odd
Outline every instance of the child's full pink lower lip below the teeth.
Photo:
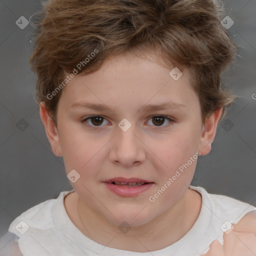
[{"label": "child's full pink lower lip below the teeth", "polygon": [[138,195],[147,189],[149,189],[153,183],[146,183],[141,186],[120,186],[115,185],[112,183],[103,182],[108,189],[110,189],[115,194],[121,195],[121,196],[135,196]]}]

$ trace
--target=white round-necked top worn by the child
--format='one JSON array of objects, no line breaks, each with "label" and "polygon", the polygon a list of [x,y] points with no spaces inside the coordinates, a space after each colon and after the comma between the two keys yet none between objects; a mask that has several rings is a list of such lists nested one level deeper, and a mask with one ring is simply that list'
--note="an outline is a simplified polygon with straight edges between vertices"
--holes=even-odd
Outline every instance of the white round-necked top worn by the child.
[{"label": "white round-necked top worn by the child", "polygon": [[[133,252],[101,245],[85,236],[70,220],[64,208],[63,191],[56,199],[49,199],[24,211],[10,224],[8,233],[1,239],[5,245],[0,255],[10,255],[8,246],[16,245],[23,256],[199,256],[208,251],[210,243],[218,239],[223,244],[223,232],[230,223],[237,223],[256,207],[229,196],[210,194],[203,187],[189,188],[202,196],[202,206],[197,220],[177,242],[150,252]],[[20,222],[22,221],[22,222]],[[22,234],[23,233],[23,234]],[[18,245],[18,246],[17,246]],[[1,247],[0,247],[1,248]],[[13,254],[12,254],[13,255]]]}]

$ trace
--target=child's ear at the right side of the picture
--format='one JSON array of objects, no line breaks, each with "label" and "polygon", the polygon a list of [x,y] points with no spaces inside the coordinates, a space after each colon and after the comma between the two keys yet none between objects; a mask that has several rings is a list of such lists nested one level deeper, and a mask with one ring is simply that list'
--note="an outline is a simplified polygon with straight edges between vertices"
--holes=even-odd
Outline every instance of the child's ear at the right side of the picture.
[{"label": "child's ear at the right side of the picture", "polygon": [[205,123],[202,127],[202,134],[200,138],[200,146],[198,150],[201,152],[201,155],[205,155],[210,152],[211,143],[215,137],[217,124],[222,112],[222,107],[216,110],[208,118],[206,118]]}]

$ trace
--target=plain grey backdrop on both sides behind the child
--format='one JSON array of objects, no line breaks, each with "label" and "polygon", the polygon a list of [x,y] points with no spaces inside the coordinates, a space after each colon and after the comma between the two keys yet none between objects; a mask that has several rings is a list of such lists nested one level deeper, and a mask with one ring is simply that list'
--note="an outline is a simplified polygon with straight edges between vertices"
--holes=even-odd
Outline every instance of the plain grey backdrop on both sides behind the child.
[{"label": "plain grey backdrop on both sides behind the child", "polygon": [[[211,152],[199,157],[191,184],[256,206],[256,1],[226,0],[225,7],[234,21],[228,32],[241,46],[222,81],[241,97],[218,127]],[[15,23],[40,8],[39,0],[0,1],[0,236],[23,211],[72,188],[33,99],[36,76],[27,62],[33,27]]]}]

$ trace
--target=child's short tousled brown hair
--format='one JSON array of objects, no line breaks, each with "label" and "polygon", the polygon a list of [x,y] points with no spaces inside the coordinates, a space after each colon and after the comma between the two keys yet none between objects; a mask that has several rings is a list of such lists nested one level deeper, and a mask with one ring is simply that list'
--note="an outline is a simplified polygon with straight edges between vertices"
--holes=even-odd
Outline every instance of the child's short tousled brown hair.
[{"label": "child's short tousled brown hair", "polygon": [[222,119],[235,99],[221,82],[237,45],[220,23],[224,8],[219,0],[51,0],[42,4],[38,21],[32,21],[37,32],[29,65],[38,77],[36,101],[45,102],[55,123],[61,91],[51,99],[47,95],[95,49],[98,53],[79,73],[98,70],[115,54],[145,49],[167,66],[188,67],[203,122],[220,107]]}]

